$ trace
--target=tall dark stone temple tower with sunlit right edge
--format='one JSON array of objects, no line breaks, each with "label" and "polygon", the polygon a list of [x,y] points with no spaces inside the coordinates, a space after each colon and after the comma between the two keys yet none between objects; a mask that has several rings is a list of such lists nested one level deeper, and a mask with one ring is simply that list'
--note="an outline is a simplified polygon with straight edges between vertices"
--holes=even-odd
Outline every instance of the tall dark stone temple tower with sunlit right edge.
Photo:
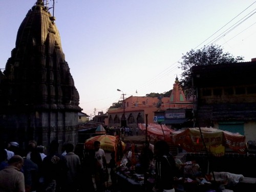
[{"label": "tall dark stone temple tower with sunlit right edge", "polygon": [[26,146],[78,141],[79,94],[61,48],[55,18],[37,0],[20,25],[0,72],[0,139]]}]

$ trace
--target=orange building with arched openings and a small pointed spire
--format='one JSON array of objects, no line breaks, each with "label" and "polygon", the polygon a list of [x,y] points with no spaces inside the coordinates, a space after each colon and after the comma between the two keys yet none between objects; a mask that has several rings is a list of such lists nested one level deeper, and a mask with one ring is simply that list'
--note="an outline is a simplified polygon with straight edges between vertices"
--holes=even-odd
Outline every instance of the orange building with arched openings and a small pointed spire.
[{"label": "orange building with arched openings and a small pointed spire", "polygon": [[124,119],[126,125],[132,127],[146,122],[167,124],[177,129],[191,126],[191,123],[188,125],[185,122],[192,118],[193,102],[186,100],[177,77],[169,97],[131,96],[124,100],[124,105],[124,110],[119,108],[108,112],[109,126],[121,126]]}]

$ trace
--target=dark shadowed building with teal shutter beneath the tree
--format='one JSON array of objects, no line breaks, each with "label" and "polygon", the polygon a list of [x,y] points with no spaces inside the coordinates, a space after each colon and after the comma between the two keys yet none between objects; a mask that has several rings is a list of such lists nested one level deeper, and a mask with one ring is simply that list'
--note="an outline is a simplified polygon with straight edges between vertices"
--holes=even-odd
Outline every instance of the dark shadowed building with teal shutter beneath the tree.
[{"label": "dark shadowed building with teal shutter beneath the tree", "polygon": [[214,127],[256,142],[256,61],[192,69],[196,119],[201,127]]}]

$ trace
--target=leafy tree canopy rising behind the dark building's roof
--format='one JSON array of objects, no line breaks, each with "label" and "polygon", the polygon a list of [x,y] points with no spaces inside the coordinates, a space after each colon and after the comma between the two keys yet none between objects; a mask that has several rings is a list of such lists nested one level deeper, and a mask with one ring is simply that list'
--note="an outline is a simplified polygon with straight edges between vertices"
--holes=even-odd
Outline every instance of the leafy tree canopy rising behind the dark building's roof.
[{"label": "leafy tree canopy rising behind the dark building's roof", "polygon": [[224,53],[218,45],[204,46],[196,51],[192,49],[185,55],[183,54],[181,58],[183,60],[179,62],[179,68],[182,69],[180,85],[184,91],[187,90],[189,93],[192,93],[191,67],[236,63],[244,60],[242,56],[234,57],[228,52]]}]

